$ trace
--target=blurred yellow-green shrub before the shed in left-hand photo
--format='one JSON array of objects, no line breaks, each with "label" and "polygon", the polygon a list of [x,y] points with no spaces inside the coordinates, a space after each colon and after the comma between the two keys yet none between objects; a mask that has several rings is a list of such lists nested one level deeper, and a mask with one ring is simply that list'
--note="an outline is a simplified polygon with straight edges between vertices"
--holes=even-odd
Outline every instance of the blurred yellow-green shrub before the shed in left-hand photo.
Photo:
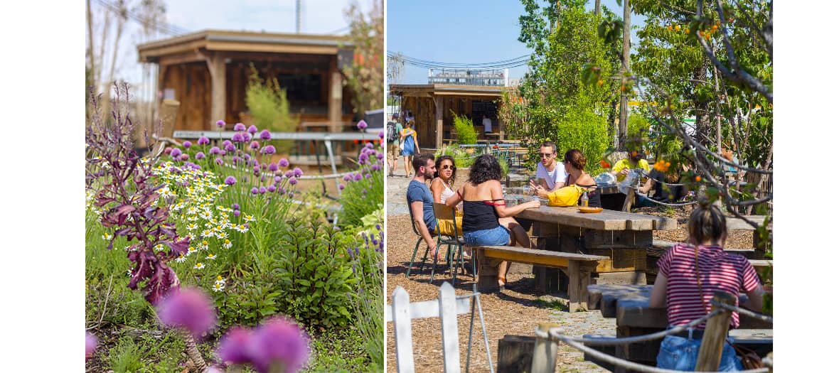
[{"label": "blurred yellow-green shrub before the shed in left-hand photo", "polygon": [[[272,132],[294,132],[297,129],[297,120],[290,114],[289,100],[277,78],[263,80],[253,64],[245,91],[245,104],[253,117],[253,125],[260,129]],[[294,145],[290,140],[276,143],[278,153],[288,153]]]}]

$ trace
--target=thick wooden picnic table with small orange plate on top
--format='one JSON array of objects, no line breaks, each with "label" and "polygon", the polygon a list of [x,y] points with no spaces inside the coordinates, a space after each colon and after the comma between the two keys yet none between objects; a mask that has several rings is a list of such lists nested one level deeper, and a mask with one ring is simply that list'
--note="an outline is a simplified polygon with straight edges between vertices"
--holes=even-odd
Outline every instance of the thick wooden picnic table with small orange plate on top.
[{"label": "thick wooden picnic table with small orange plate on top", "polygon": [[[533,236],[539,249],[607,256],[593,271],[597,282],[645,283],[653,231],[676,228],[676,220],[666,217],[613,210],[582,214],[576,207],[548,205],[524,210],[517,217],[534,222]],[[534,274],[538,291],[565,288],[560,282],[567,277],[555,269],[534,266]]]}]

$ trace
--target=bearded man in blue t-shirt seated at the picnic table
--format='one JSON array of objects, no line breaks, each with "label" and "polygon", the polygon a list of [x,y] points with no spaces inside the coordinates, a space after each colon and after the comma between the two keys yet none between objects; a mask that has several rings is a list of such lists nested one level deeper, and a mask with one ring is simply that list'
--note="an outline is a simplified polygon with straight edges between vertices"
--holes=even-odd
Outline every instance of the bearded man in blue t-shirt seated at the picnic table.
[{"label": "bearded man in blue t-shirt seated at the picnic table", "polygon": [[[425,240],[425,245],[437,256],[437,245],[431,232],[437,227],[437,219],[434,217],[434,197],[431,189],[425,183],[434,178],[435,164],[434,155],[423,153],[414,157],[414,179],[408,184],[408,207],[411,209],[411,216],[414,218],[414,225],[420,236]],[[437,256],[440,261],[440,257]]]}]

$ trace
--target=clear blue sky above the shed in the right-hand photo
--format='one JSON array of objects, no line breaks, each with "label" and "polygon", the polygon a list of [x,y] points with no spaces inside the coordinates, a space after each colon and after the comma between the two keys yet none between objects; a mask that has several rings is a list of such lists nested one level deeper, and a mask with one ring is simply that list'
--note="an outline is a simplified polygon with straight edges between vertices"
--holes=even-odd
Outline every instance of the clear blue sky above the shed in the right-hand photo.
[{"label": "clear blue sky above the shed in the right-hand photo", "polygon": [[[615,0],[601,4],[623,14]],[[593,9],[594,2],[588,2],[587,8]],[[516,0],[388,0],[387,12],[387,48],[409,57],[470,64],[530,53],[517,40],[524,6]],[[643,22],[643,17],[633,14],[633,25]],[[521,78],[525,68],[510,69],[510,77]],[[405,65],[400,83],[427,82],[428,70]]]}]

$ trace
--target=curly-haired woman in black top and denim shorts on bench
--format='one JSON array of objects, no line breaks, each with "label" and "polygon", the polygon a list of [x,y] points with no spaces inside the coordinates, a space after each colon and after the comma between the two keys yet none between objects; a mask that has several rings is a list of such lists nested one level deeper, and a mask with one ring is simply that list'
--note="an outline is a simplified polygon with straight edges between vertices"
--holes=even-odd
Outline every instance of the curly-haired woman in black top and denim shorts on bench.
[{"label": "curly-haired woman in black top and denim shorts on bench", "polygon": [[[513,219],[525,209],[539,207],[539,201],[507,207],[501,189],[501,165],[489,154],[475,160],[469,169],[466,184],[457,189],[457,193],[446,199],[446,205],[455,207],[463,201],[463,240],[468,246],[506,246],[530,247],[530,238],[524,228]],[[498,267],[498,286],[507,282],[508,263],[501,262]]]}]

